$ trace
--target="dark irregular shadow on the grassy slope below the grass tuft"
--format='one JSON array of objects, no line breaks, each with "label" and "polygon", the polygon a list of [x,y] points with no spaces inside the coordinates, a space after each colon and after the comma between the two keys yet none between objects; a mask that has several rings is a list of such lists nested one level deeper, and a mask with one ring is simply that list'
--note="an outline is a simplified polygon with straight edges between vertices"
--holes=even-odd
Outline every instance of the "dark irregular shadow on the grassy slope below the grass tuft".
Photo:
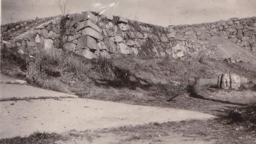
[{"label": "dark irregular shadow on the grassy slope below the grass tuft", "polygon": [[116,79],[110,78],[92,78],[96,86],[105,86],[105,87],[113,87],[113,88],[129,88],[135,90],[137,87],[141,89],[147,89],[151,87],[153,84],[149,83],[147,80],[143,80],[142,78],[136,77],[129,70],[121,69],[115,67],[115,76]]}]

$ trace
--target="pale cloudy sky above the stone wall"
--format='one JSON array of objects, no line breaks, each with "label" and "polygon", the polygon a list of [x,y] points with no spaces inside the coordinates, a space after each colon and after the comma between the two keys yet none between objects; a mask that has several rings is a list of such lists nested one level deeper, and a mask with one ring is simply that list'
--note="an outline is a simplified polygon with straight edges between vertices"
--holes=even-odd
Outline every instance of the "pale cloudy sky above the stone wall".
[{"label": "pale cloudy sky above the stone wall", "polygon": [[[56,0],[1,0],[1,24],[60,15]],[[256,16],[256,0],[69,0],[71,13],[98,11],[159,26]]]}]

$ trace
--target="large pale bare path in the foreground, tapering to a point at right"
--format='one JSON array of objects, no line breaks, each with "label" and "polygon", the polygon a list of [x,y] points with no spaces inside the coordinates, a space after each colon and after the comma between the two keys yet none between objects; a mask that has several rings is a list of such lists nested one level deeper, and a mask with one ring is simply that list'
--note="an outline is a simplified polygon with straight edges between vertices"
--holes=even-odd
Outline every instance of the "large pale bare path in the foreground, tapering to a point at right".
[{"label": "large pale bare path in the foreground, tapering to a point at right", "polygon": [[61,133],[73,129],[81,131],[215,117],[195,111],[93,99],[35,99],[0,104],[0,138],[29,135],[37,130]]}]

